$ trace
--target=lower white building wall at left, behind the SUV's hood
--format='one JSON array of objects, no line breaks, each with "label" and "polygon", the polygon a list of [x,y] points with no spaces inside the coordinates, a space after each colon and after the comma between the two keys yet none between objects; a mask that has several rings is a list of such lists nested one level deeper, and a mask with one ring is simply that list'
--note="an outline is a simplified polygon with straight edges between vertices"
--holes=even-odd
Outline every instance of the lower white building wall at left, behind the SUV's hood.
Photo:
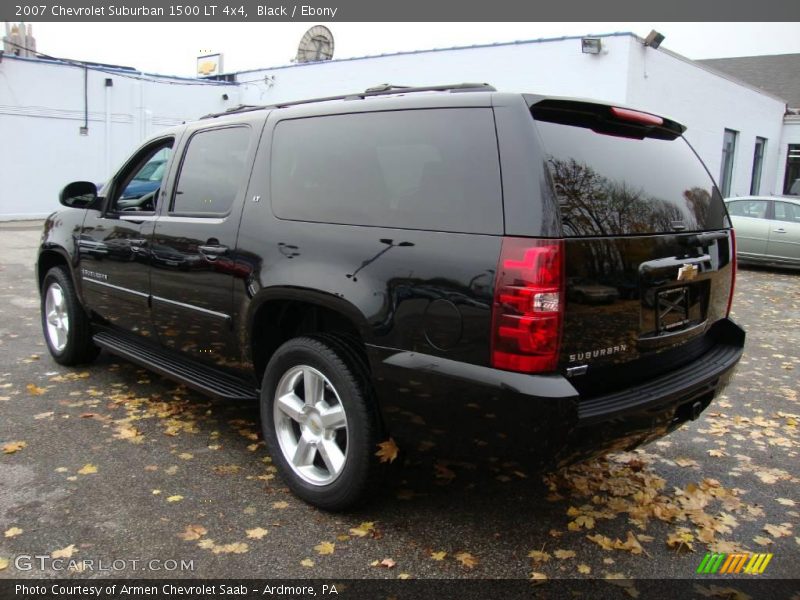
[{"label": "lower white building wall at left, behind the SUV's hood", "polygon": [[[106,88],[110,78],[113,86]],[[169,82],[169,83],[168,83]],[[143,82],[5,56],[0,63],[0,219],[38,218],[59,207],[70,181],[104,181],[159,129],[239,103],[235,86]],[[222,94],[230,96],[222,100]],[[107,102],[108,100],[108,102]]]}]

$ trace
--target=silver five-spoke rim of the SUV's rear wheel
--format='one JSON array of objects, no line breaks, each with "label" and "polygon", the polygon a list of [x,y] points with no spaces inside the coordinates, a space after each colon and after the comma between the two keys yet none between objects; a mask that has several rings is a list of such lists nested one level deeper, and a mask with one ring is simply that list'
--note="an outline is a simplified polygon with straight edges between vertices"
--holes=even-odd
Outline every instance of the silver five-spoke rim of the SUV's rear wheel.
[{"label": "silver five-spoke rim of the SUV's rear wheel", "polygon": [[347,415],[339,394],[318,370],[290,368],[275,390],[273,421],[278,444],[304,481],[328,485],[347,461]]}]

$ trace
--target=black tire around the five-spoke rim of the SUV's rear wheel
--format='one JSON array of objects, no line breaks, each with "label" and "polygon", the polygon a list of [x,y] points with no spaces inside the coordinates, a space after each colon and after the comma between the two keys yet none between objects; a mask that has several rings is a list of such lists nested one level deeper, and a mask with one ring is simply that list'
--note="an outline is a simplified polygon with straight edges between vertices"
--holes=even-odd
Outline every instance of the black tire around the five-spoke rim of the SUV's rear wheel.
[{"label": "black tire around the five-spoke rim of the SUV's rear wheel", "polygon": [[[284,376],[300,366],[311,367],[327,379],[324,393],[330,398],[335,394],[335,402],[341,404],[346,415],[344,463],[330,482],[311,482],[304,478],[287,458],[279,441],[282,434],[276,429],[275,423],[276,392]],[[380,472],[375,452],[381,441],[381,427],[372,386],[363,368],[355,360],[354,354],[334,339],[322,336],[298,337],[275,351],[264,373],[261,387],[261,426],[273,463],[295,495],[325,510],[344,510],[363,501],[375,485]],[[327,387],[328,384],[330,387]],[[295,435],[299,437],[301,426],[297,427]],[[318,443],[322,444],[322,441]],[[323,474],[332,473],[326,466],[327,463],[323,464],[321,451],[314,452],[314,464],[320,461],[319,470]],[[303,468],[314,468],[314,464]]]}]

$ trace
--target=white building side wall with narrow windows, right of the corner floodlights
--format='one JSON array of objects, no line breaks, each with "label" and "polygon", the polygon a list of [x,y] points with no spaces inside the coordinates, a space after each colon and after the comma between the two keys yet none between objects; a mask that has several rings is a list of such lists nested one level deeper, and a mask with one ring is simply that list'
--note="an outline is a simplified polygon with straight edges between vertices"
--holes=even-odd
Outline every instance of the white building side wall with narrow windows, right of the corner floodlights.
[{"label": "white building side wall with narrow windows, right of the corner floodlights", "polygon": [[738,131],[731,196],[750,193],[756,136],[766,138],[759,193],[780,193],[775,173],[782,170],[782,100],[678,55],[646,48],[635,38],[629,44],[628,104],[686,125],[686,139],[718,183],[724,131]]}]

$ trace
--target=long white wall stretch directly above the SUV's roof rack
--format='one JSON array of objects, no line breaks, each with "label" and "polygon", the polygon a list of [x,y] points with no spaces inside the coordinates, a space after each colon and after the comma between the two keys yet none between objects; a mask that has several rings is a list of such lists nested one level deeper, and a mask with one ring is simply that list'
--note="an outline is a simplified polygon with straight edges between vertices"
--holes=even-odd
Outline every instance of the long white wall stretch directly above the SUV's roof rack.
[{"label": "long white wall stretch directly above the SUV's roof rack", "polygon": [[[581,53],[580,38],[375,56],[240,73],[244,101],[270,104],[364,91],[381,83],[490,83],[498,90],[622,101],[627,35],[603,38],[600,55]],[[264,78],[273,81],[263,84]]]}]

